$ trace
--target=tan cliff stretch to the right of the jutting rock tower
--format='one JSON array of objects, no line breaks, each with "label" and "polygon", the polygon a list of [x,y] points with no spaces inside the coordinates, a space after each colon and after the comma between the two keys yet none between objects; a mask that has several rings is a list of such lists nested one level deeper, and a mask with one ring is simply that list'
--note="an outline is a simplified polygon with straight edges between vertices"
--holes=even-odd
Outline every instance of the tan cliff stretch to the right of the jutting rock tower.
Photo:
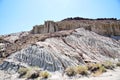
[{"label": "tan cliff stretch to the right of the jutting rock tower", "polygon": [[83,27],[87,30],[106,36],[120,36],[119,20],[70,20],[58,22],[58,30],[70,30]]}]

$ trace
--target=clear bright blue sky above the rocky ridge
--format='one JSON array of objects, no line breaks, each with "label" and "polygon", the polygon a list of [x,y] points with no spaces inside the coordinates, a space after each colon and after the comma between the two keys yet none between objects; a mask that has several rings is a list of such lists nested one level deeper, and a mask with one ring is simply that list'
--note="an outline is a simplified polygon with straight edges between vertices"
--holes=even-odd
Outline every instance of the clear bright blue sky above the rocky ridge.
[{"label": "clear bright blue sky above the rocky ridge", "polygon": [[77,16],[120,19],[120,0],[0,0],[0,34]]}]

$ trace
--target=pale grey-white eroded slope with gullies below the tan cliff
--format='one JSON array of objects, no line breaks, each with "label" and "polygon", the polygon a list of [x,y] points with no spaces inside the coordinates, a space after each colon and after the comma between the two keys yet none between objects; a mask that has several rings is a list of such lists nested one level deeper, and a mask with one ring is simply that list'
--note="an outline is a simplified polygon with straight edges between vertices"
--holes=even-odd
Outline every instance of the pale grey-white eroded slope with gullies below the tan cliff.
[{"label": "pale grey-white eroded slope with gullies below the tan cliff", "polygon": [[84,28],[75,29],[69,35],[62,34],[61,31],[61,36],[48,37],[27,45],[7,57],[0,68],[17,71],[20,66],[38,66],[43,70],[63,71],[68,66],[84,65],[86,62],[120,59],[120,43],[114,39]]}]

